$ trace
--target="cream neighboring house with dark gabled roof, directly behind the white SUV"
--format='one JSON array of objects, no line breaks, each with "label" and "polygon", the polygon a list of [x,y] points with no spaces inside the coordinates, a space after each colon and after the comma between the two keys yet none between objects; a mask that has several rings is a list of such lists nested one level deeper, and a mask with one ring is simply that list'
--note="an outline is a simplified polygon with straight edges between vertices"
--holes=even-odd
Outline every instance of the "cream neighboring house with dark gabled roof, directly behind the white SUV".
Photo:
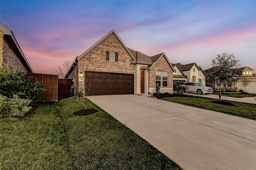
[{"label": "cream neighboring house with dark gabled roof, directly behind the white SUV", "polygon": [[205,85],[206,75],[202,68],[198,67],[196,63],[190,63],[185,65],[177,63],[175,65],[180,68],[184,75],[187,76],[186,81],[202,83],[203,85]]}]

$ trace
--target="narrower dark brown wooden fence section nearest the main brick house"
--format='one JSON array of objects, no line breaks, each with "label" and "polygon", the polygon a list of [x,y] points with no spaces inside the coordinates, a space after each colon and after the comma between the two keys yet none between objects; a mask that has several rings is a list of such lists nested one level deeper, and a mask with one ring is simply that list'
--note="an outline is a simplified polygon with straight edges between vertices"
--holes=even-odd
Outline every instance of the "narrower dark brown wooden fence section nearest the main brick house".
[{"label": "narrower dark brown wooden fence section nearest the main brick house", "polygon": [[[71,91],[73,79],[58,79],[58,97],[68,96],[68,91]],[[72,93],[72,95],[74,95]]]}]

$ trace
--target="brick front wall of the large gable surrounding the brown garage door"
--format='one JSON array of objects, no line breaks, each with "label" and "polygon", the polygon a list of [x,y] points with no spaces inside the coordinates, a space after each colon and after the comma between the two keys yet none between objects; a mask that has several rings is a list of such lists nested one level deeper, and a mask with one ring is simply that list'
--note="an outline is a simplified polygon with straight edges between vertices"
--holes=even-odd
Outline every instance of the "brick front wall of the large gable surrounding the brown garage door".
[{"label": "brick front wall of the large gable surrounding the brown garage door", "polygon": [[[118,62],[106,61],[106,51],[118,52]],[[131,59],[118,38],[114,34],[110,34],[110,36],[78,60],[76,65],[76,73],[78,73],[77,91],[82,91],[84,87],[84,81],[82,79],[79,81],[79,79],[84,78],[85,71],[134,74],[135,65],[130,63]],[[82,77],[80,77],[81,72],[83,74]],[[134,87],[135,82],[134,78]]]}]

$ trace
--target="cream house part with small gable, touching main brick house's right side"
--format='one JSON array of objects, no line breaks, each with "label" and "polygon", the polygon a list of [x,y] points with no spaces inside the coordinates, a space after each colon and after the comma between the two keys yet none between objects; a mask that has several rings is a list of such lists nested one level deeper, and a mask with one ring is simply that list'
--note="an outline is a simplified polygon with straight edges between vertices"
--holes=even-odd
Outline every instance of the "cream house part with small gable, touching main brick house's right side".
[{"label": "cream house part with small gable, touching main brick house's right side", "polygon": [[177,64],[172,64],[173,72],[173,91],[177,91],[177,86],[182,81],[188,81],[188,77],[181,71]]}]

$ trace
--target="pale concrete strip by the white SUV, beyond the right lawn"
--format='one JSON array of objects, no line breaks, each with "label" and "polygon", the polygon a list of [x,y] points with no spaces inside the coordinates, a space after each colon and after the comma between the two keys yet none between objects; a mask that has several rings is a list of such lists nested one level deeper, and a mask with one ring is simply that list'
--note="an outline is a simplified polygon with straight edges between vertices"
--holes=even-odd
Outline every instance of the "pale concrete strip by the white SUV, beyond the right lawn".
[{"label": "pale concrete strip by the white SUV, beyond the right lawn", "polygon": [[[207,97],[207,98],[212,98],[212,99],[219,99],[219,95],[198,95],[195,93],[185,93],[186,95],[192,95],[192,96],[198,96],[198,97]],[[228,97],[228,96],[221,96],[222,100],[227,100],[227,101],[236,101],[236,102],[242,102],[242,103],[251,103],[251,104],[256,104],[256,97],[244,97],[244,98],[236,98],[236,97]]]}]

